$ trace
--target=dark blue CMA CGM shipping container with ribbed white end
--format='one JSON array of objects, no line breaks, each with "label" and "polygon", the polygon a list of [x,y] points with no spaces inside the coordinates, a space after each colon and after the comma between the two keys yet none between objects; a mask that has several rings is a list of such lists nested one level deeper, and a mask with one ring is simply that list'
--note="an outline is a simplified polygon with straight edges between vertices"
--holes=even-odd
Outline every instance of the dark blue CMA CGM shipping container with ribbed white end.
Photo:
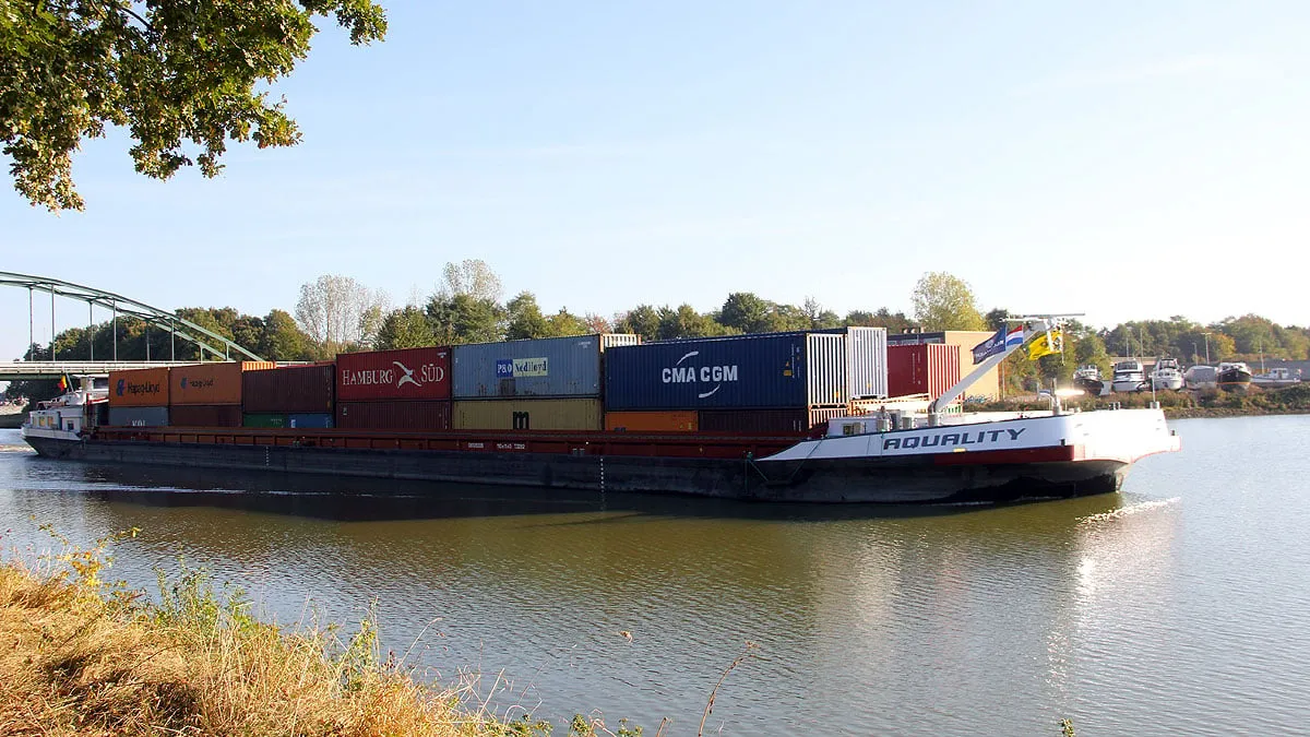
[{"label": "dark blue CMA CGM shipping container with ribbed white end", "polygon": [[844,405],[850,361],[845,340],[836,332],[765,333],[613,348],[605,351],[605,407]]}]

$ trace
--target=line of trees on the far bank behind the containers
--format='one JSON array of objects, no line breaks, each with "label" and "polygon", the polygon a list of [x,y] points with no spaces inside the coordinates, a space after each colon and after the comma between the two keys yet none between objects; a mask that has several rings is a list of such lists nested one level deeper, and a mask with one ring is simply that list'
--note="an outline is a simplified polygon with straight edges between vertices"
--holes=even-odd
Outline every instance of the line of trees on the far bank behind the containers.
[{"label": "line of trees on the far bank behind the containers", "polygon": [[[502,300],[503,287],[483,261],[447,264],[441,279],[426,298],[411,295],[407,304],[393,307],[389,295],[356,279],[328,274],[300,289],[293,313],[272,309],[265,316],[245,315],[232,307],[189,307],[177,315],[250,349],[269,361],[322,361],[337,353],[369,349],[460,345],[500,340],[562,337],[597,332],[638,333],[646,340],[731,336],[779,330],[832,329],[844,325],[905,330],[994,330],[1011,313],[1003,308],[981,312],[967,282],[947,273],[925,274],[910,294],[912,312],[889,308],[853,309],[844,316],[824,308],[816,299],[787,304],[753,292],[732,292],[711,311],[690,304],[677,307],[637,304],[605,317],[567,308],[546,313],[531,291]],[[69,328],[54,340],[62,359],[86,361],[92,355],[122,361],[221,359],[200,355],[194,344],[173,344],[168,332],[151,329],[143,320],[119,317],[89,328]],[[1094,328],[1070,321],[1064,353],[1036,362],[1022,353],[1002,368],[1010,389],[1038,383],[1068,380],[1074,368],[1096,365],[1108,372],[1115,357],[1172,355],[1184,363],[1259,358],[1310,358],[1310,329],[1284,327],[1258,315],[1225,317],[1200,324],[1182,316],[1169,320],[1133,320],[1114,328]],[[46,361],[50,345],[34,344],[24,361]],[[967,370],[967,367],[964,367]],[[9,396],[52,396],[51,382],[16,382]]]}]

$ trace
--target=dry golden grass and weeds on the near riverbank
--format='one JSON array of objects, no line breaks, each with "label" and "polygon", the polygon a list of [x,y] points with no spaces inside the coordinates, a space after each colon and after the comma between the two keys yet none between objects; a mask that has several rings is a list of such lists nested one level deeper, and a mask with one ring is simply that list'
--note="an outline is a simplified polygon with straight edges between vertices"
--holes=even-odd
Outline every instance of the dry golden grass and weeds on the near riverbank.
[{"label": "dry golden grass and weeds on the near riverbank", "polygon": [[[160,578],[157,599],[102,580],[107,557],[66,544],[0,561],[3,734],[414,734],[529,737],[552,725],[494,713],[473,682],[424,682],[377,627],[287,629],[216,593],[195,570]],[[507,719],[512,716],[512,719]],[[575,717],[570,737],[638,737]]]}]

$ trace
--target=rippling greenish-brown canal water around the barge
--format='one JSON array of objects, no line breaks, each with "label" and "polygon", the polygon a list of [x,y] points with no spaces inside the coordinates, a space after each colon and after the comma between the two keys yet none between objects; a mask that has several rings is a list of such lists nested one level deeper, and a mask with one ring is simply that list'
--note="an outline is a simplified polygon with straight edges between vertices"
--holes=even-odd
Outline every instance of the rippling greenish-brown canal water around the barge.
[{"label": "rippling greenish-brown canal water around the barge", "polygon": [[[0,430],[0,540],[140,527],[269,616],[358,622],[499,708],[696,734],[1293,734],[1310,723],[1310,416],[1172,424],[1120,494],[764,506],[85,466]],[[563,729],[557,729],[562,732]]]}]

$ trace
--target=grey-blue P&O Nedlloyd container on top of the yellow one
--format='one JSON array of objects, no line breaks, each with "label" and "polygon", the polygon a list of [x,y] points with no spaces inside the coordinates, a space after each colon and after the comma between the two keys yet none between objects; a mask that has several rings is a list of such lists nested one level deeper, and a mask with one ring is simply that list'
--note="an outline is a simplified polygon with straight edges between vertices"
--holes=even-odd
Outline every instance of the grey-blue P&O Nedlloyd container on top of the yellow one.
[{"label": "grey-blue P&O Nedlloyd container on top of the yellow one", "polygon": [[457,345],[451,349],[455,399],[600,396],[601,353],[638,336],[604,333]]}]

